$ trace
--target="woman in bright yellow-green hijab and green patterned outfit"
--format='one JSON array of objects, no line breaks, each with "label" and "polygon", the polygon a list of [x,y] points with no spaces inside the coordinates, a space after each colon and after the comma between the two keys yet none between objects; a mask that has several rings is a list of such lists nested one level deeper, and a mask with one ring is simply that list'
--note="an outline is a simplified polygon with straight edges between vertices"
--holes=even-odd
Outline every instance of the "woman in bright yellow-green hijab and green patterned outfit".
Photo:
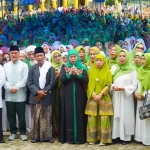
[{"label": "woman in bright yellow-green hijab and green patterned outfit", "polygon": [[112,143],[110,116],[113,115],[112,102],[109,94],[112,76],[107,60],[102,54],[96,56],[89,72],[88,102],[85,114],[88,115],[87,142],[101,145]]}]

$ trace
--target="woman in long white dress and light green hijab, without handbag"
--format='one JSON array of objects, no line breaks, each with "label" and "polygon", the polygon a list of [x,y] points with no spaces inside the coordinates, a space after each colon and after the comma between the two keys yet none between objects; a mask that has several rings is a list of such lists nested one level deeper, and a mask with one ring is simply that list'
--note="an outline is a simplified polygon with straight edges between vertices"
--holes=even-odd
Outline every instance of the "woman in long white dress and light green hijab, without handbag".
[{"label": "woman in long white dress and light green hijab, without handbag", "polygon": [[113,84],[111,86],[114,107],[112,139],[122,144],[128,144],[134,135],[134,98],[137,87],[137,72],[129,60],[129,53],[122,49],[119,52],[118,63],[111,68]]}]

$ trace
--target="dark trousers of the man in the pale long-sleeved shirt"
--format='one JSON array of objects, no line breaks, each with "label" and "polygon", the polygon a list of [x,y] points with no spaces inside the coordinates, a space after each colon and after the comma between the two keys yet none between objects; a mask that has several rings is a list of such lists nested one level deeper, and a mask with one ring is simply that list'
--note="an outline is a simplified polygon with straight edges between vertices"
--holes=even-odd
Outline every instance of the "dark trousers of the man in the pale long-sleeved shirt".
[{"label": "dark trousers of the man in the pale long-sleeved shirt", "polygon": [[19,131],[21,135],[26,134],[25,122],[25,102],[8,102],[6,101],[7,117],[10,125],[10,132],[16,134],[18,128],[16,127],[16,114],[19,120]]}]

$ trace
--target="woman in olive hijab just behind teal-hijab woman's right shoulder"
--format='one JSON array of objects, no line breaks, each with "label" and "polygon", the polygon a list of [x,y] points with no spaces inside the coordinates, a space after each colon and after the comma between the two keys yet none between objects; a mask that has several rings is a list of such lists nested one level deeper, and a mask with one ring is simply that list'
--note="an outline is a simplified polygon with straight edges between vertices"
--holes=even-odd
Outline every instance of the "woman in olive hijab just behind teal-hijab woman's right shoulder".
[{"label": "woman in olive hijab just behind teal-hijab woman's right shoulder", "polygon": [[83,46],[78,46],[78,47],[75,48],[75,50],[78,52],[78,55],[80,57],[80,60],[81,60],[82,64],[85,64],[87,58],[86,58],[86,51],[85,51],[84,47]]}]

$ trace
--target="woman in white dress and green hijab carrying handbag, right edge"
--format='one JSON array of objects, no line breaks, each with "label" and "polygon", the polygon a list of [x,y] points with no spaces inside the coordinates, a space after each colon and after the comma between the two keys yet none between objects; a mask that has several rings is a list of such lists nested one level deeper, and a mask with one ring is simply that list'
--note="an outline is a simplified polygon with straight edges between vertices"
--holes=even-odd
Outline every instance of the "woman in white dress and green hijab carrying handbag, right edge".
[{"label": "woman in white dress and green hijab carrying handbag, right edge", "polygon": [[150,104],[150,54],[143,54],[142,67],[138,69],[138,87],[134,96],[137,99],[136,112],[136,127],[135,127],[135,141],[137,144],[150,145],[150,118],[140,120],[139,107],[143,106],[145,94],[147,94],[146,104]]}]

